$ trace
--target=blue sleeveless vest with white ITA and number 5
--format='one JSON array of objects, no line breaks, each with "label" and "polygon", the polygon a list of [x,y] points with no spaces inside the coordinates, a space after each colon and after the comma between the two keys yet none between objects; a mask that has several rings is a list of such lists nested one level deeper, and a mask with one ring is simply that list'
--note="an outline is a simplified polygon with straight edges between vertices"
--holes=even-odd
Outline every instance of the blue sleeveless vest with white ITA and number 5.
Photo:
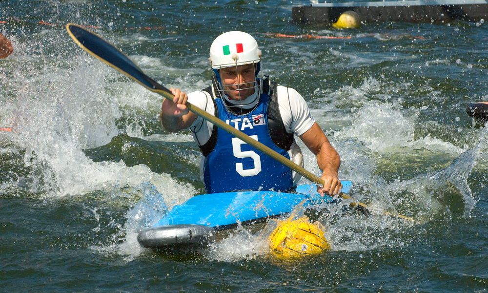
[{"label": "blue sleeveless vest with white ITA and number 5", "polygon": [[[268,94],[261,94],[257,107],[245,115],[229,112],[222,98],[215,99],[215,103],[219,119],[287,159],[290,158],[285,149],[276,146],[269,133]],[[208,193],[234,190],[285,191],[293,186],[288,167],[220,128],[217,129],[216,144],[205,156],[203,164],[203,181]]]}]

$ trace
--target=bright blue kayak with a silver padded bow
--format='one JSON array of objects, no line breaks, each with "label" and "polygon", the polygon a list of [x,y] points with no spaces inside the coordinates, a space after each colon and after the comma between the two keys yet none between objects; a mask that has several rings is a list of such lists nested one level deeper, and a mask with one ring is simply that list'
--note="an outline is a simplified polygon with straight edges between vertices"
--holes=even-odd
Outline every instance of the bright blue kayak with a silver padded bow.
[{"label": "bright blue kayak with a silver padded bow", "polygon": [[[351,181],[341,181],[343,193],[352,187]],[[333,201],[322,197],[316,185],[299,185],[295,192],[235,191],[194,196],[175,206],[152,228],[141,230],[139,243],[146,248],[205,246],[215,241],[219,230],[245,224],[264,222],[303,207]]]}]

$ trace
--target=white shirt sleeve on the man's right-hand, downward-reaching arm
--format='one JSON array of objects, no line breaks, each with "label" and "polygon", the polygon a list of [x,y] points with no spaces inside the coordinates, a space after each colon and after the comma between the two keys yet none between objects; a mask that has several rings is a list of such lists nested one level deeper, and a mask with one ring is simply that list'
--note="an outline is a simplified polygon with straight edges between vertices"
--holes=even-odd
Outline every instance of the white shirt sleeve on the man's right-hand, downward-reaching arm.
[{"label": "white shirt sleeve on the man's right-hand, downward-reaching arm", "polygon": [[278,105],[288,133],[300,136],[315,123],[305,99],[293,88],[278,85]]}]

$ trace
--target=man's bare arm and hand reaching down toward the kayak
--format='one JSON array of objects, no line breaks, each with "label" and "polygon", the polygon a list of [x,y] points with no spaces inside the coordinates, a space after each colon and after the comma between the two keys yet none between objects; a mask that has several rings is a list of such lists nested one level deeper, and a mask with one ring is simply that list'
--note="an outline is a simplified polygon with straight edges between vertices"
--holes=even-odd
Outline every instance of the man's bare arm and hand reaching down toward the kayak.
[{"label": "man's bare arm and hand reaching down toward the kayak", "polygon": [[300,135],[300,139],[317,156],[317,165],[322,170],[322,176],[320,178],[324,180],[325,184],[323,188],[318,188],[317,191],[322,196],[324,196],[324,192],[328,195],[336,195],[339,193],[342,188],[342,183],[338,175],[341,158],[335,148],[330,144],[324,131],[315,122],[310,129]]}]

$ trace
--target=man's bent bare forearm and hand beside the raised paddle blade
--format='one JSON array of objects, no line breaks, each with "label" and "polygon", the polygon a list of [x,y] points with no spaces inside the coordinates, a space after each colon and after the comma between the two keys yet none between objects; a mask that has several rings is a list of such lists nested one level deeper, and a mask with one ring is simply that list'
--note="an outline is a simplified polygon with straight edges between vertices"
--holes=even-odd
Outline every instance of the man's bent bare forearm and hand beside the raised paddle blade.
[{"label": "man's bent bare forearm and hand beside the raised paddle blade", "polygon": [[197,118],[197,114],[190,112],[186,107],[188,95],[180,89],[170,89],[175,95],[173,101],[164,99],[161,107],[160,121],[164,129],[170,132],[178,132],[191,126]]}]

